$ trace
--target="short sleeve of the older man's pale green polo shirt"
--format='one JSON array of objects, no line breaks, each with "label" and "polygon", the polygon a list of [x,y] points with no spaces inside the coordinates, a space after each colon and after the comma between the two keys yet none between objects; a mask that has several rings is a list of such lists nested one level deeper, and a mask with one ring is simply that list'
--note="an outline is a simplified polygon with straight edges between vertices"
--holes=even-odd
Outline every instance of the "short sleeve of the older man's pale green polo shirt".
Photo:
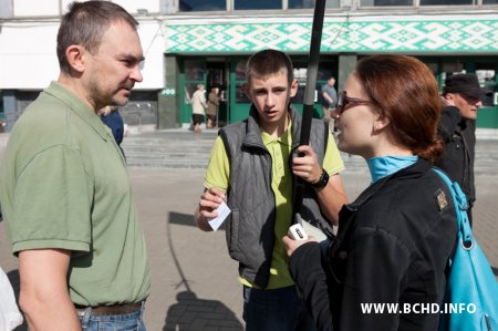
[{"label": "short sleeve of the older man's pale green polo shirt", "polygon": [[9,223],[12,250],[90,251],[90,186],[80,153],[55,145],[18,170]]}]

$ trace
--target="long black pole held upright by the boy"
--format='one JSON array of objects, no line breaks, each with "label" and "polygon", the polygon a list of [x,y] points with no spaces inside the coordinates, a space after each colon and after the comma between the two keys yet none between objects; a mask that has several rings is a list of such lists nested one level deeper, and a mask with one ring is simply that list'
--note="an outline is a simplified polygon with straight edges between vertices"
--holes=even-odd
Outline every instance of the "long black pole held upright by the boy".
[{"label": "long black pole held upright by the boy", "polygon": [[[302,110],[301,136],[299,144],[309,145],[311,120],[313,118],[314,93],[317,90],[318,68],[320,62],[320,46],[322,43],[323,19],[325,15],[326,0],[315,0],[313,25],[311,28],[310,54],[307,71],[307,85],[304,86],[304,101]],[[303,192],[305,183],[297,178],[294,183],[293,209],[294,224],[301,223],[300,210],[302,207]]]}]

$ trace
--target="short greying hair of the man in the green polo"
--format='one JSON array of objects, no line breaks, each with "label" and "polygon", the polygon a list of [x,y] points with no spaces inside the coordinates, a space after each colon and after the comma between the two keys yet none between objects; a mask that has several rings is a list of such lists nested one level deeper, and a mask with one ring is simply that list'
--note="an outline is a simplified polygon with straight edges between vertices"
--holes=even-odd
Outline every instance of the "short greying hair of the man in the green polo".
[{"label": "short greying hair of the man in the green polo", "polygon": [[59,66],[70,72],[65,51],[72,44],[82,45],[94,54],[102,42],[102,35],[115,21],[122,21],[136,29],[138,22],[121,6],[111,1],[72,2],[69,12],[62,17],[58,33]]}]

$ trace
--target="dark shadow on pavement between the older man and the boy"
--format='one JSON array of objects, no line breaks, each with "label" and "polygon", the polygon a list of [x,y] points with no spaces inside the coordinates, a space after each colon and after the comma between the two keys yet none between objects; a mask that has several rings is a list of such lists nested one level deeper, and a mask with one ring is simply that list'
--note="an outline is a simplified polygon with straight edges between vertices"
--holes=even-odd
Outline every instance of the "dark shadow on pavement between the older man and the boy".
[{"label": "dark shadow on pavement between the older man and the boy", "polygon": [[172,224],[196,226],[191,215],[174,211],[168,215],[168,247],[175,261],[175,267],[181,278],[177,288],[185,287],[185,290],[176,294],[177,302],[170,306],[166,312],[163,331],[243,330],[243,325],[237,319],[234,311],[228,309],[225,303],[217,300],[199,299],[190,289],[172,240]]}]

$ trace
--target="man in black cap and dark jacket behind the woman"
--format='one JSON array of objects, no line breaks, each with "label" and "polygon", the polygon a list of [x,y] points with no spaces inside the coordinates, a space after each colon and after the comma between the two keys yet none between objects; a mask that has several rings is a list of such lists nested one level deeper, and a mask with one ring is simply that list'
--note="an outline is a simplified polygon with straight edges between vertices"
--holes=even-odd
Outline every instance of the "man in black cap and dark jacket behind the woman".
[{"label": "man in black cap and dark jacket behind the woman", "polygon": [[474,156],[477,110],[483,105],[481,97],[491,92],[480,87],[475,74],[452,75],[446,79],[443,90],[445,107],[438,131],[446,147],[436,166],[461,186],[469,204],[470,225],[471,207],[476,200]]}]

